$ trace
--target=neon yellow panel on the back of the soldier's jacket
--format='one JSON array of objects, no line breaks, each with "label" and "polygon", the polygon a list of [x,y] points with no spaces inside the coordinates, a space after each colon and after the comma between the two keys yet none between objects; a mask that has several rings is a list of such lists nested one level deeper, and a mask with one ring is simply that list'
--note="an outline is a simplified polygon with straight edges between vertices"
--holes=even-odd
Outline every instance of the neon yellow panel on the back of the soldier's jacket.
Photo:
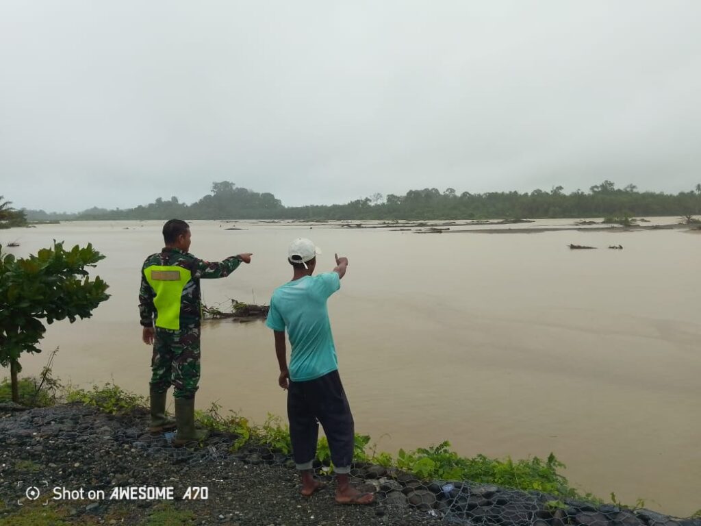
[{"label": "neon yellow panel on the back of the soldier's jacket", "polygon": [[156,292],[156,327],[179,330],[182,290],[191,272],[182,267],[151,265],[144,269],[144,276]]}]

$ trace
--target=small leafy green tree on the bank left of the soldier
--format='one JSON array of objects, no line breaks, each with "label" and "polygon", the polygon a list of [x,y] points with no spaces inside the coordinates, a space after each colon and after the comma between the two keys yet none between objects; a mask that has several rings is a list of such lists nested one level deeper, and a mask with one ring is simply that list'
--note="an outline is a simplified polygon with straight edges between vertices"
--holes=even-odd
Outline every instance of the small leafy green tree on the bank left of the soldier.
[{"label": "small leafy green tree on the bank left of the soldier", "polygon": [[[0,245],[0,252],[2,246]],[[15,259],[0,253],[0,365],[10,367],[12,399],[19,401],[18,374],[22,352],[40,353],[46,323],[76,317],[90,318],[93,309],[109,298],[107,283],[90,281],[86,267],[104,256],[88,243],[86,248],[63,249],[54,241],[37,255]]]}]

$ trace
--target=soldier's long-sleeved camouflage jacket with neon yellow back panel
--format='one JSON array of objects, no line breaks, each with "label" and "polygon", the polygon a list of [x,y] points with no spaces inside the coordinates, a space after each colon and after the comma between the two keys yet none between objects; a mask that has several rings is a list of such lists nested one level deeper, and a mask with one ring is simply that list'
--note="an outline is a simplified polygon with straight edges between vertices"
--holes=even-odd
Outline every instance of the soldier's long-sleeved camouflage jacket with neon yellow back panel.
[{"label": "soldier's long-sleeved camouflage jacket with neon yellow back panel", "polygon": [[[155,318],[156,326],[163,326],[162,323],[158,323],[158,308],[156,305],[160,305],[160,309],[164,312],[166,309],[168,309],[169,313],[175,312],[175,318],[179,318],[178,328],[199,327],[201,316],[200,278],[225,278],[236,270],[240,264],[241,260],[238,256],[227,257],[222,262],[210,263],[177,248],[163,248],[160,253],[150,255],[144,261],[144,266],[141,269],[141,289],[139,290],[141,324],[144,327],[152,327]],[[163,267],[166,267],[165,270]],[[183,273],[184,277],[178,277],[180,274],[177,271],[177,267],[185,269],[189,274],[185,272]],[[175,269],[175,271],[172,269]],[[147,273],[151,279],[159,279],[156,278],[156,274],[163,276],[160,279],[164,281],[182,279],[182,282],[179,283],[182,285],[182,292],[176,288],[177,295],[174,296],[172,287],[170,288],[170,294],[156,292],[151,285],[151,283],[155,282],[149,283]],[[173,277],[172,274],[176,276]],[[177,286],[178,283],[176,283]],[[179,306],[177,304],[169,304],[169,302],[177,302],[178,300],[180,302]],[[177,316],[178,312],[179,316]],[[176,319],[174,323],[178,323],[178,320]]]}]

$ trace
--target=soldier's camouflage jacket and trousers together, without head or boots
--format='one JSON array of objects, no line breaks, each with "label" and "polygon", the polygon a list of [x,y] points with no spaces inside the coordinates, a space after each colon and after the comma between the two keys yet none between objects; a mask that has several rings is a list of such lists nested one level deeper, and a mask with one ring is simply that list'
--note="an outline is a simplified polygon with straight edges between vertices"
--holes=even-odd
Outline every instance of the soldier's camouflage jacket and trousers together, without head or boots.
[{"label": "soldier's camouflage jacket and trousers together, without head or boots", "polygon": [[[151,388],[193,398],[200,379],[200,278],[224,278],[241,260],[210,263],[177,248],[147,257],[141,271],[139,311],[144,327],[156,325]],[[155,318],[155,319],[154,319]]]}]

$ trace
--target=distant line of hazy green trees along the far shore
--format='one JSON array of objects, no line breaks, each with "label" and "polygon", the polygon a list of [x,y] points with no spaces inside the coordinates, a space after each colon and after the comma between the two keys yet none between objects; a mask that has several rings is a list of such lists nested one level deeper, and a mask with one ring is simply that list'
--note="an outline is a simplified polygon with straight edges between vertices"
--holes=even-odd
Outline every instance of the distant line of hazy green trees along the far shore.
[{"label": "distant line of hazy green trees along the far shore", "polygon": [[374,194],[343,205],[285,207],[273,194],[259,194],[229,181],[212,184],[210,194],[187,205],[173,196],[165,201],[125,210],[90,208],[78,214],[26,210],[29,220],[167,220],[172,217],[200,220],[457,220],[525,219],[547,217],[610,217],[701,214],[701,184],[695,189],[665,194],[638,191],[634,184],[617,189],[611,181],[595,184],[585,192],[550,191],[487,192],[458,194],[455,189],[409,190],[403,196]]}]

